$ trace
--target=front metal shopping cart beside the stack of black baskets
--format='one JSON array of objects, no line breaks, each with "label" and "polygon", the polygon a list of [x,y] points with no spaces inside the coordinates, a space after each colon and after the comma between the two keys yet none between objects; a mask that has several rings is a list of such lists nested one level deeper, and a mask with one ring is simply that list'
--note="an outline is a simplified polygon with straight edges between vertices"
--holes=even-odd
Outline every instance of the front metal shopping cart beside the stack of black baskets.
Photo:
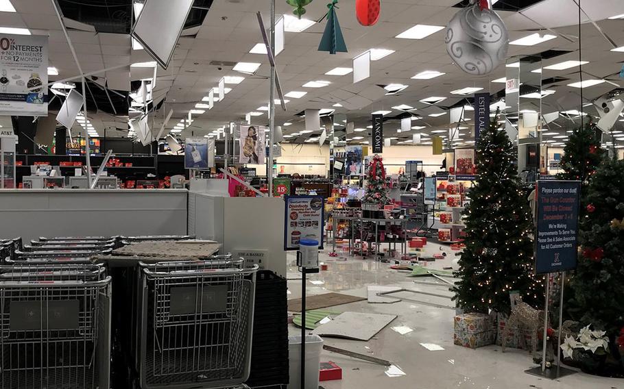
[{"label": "front metal shopping cart beside the stack of black baskets", "polygon": [[135,358],[141,388],[246,381],[258,266],[234,262],[140,264]]}]

